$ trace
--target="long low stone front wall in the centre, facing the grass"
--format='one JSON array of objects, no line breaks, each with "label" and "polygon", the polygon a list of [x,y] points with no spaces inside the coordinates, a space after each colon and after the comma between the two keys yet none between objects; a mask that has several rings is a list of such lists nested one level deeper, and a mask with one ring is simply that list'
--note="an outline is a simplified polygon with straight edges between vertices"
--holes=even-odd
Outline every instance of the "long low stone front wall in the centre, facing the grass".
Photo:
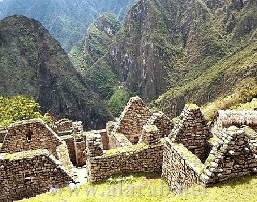
[{"label": "long low stone front wall in the centre, facing the grass", "polygon": [[[125,148],[125,147],[124,147]],[[160,172],[163,145],[141,150],[121,151],[112,155],[87,157],[89,181],[98,182],[122,172]]]}]

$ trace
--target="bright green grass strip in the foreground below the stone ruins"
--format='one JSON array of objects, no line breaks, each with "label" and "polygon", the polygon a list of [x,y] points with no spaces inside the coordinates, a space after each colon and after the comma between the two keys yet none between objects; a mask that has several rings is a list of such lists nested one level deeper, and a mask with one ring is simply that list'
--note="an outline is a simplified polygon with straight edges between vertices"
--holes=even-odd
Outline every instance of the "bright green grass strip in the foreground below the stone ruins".
[{"label": "bright green grass strip in the foreground below the stone ruins", "polygon": [[[120,176],[119,176],[120,177]],[[117,178],[117,176],[116,176]],[[114,178],[115,179],[115,178]],[[94,185],[96,191],[95,197],[90,194],[88,197],[85,196],[84,188],[81,188],[78,196],[75,196],[75,193],[72,193],[70,196],[69,192],[66,189],[62,189],[62,194],[59,196],[55,194],[52,196],[51,194],[43,194],[36,198],[31,198],[28,200],[23,200],[20,202],[256,202],[256,187],[257,187],[257,176],[256,177],[241,177],[232,179],[225,183],[220,183],[210,188],[206,188],[206,196],[202,194],[202,192],[197,192],[195,189],[196,195],[193,196],[191,192],[189,192],[188,196],[160,196],[159,194],[159,185],[162,182],[165,185],[164,181],[161,181],[160,175],[152,175],[150,174],[137,174],[134,175],[133,181],[125,181],[123,182],[123,192],[122,196],[118,196],[116,193],[116,197],[107,197],[106,187],[110,184],[103,182]],[[126,184],[133,185],[134,187],[134,197],[131,195],[129,197],[125,197],[124,186]],[[117,184],[112,184],[115,188],[118,187]],[[141,196],[136,195],[136,186],[141,186]],[[86,185],[89,189],[90,184]],[[146,188],[144,188],[145,186]],[[149,186],[156,187],[156,196],[149,196],[149,194],[153,194],[149,191]],[[153,187],[150,189],[153,190]],[[150,193],[148,193],[150,192]],[[100,196],[103,193],[103,196]],[[163,189],[163,195],[166,193],[166,189]]]}]

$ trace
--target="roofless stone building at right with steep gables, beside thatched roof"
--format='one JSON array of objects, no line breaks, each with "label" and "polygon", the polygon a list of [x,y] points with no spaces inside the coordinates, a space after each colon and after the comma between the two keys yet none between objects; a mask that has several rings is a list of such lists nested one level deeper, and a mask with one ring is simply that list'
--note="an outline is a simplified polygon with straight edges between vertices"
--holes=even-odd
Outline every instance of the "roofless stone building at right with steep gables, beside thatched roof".
[{"label": "roofless stone building at right with steep gables, beside thatched roof", "polygon": [[[194,126],[197,126],[195,130]],[[200,108],[189,104],[185,106],[172,133],[165,137],[162,178],[176,193],[195,184],[209,186],[231,178],[257,174],[257,135],[252,129],[244,127],[243,130],[235,126],[218,128],[212,142],[206,130],[208,127]]]}]

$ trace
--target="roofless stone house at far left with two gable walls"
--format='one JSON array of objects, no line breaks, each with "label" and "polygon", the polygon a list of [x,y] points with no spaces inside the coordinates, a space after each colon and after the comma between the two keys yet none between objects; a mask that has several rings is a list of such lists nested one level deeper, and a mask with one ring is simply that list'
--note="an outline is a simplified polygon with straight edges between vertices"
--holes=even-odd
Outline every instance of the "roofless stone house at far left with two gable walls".
[{"label": "roofless stone house at far left with two gable walls", "polygon": [[12,202],[76,181],[64,141],[42,120],[11,124],[0,148],[0,201]]}]

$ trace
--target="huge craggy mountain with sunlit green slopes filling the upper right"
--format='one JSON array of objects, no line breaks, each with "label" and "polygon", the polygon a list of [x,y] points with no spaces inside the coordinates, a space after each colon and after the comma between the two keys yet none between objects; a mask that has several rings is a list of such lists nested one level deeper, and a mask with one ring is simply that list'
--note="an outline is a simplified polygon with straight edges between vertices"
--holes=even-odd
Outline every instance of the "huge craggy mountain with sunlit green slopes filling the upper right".
[{"label": "huge craggy mountain with sunlit green slopes filling the upper right", "polygon": [[174,117],[188,102],[206,105],[245,88],[248,99],[257,96],[256,67],[256,0],[141,0],[84,70],[102,99],[120,85]]}]

